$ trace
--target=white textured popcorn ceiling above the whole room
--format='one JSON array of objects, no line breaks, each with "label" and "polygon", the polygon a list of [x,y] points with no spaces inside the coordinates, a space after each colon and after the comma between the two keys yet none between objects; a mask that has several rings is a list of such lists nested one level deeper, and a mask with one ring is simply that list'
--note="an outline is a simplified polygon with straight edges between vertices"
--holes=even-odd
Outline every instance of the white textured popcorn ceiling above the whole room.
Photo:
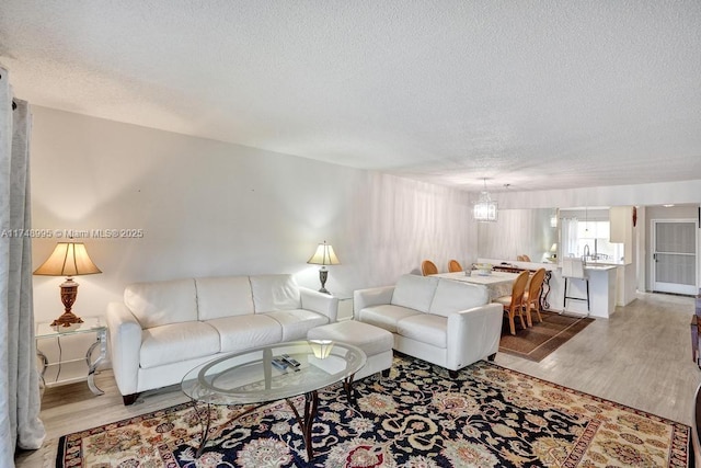
[{"label": "white textured popcorn ceiling above the whole room", "polygon": [[475,191],[701,179],[701,1],[2,0],[32,104]]}]

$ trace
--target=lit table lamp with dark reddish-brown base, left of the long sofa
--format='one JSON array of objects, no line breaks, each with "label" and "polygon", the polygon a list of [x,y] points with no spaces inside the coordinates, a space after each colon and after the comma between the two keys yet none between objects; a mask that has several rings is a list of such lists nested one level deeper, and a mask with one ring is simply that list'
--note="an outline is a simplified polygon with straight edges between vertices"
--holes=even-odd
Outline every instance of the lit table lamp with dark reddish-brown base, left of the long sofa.
[{"label": "lit table lamp with dark reddish-brown base, left of the long sofa", "polygon": [[82,323],[83,319],[76,316],[70,309],[78,296],[78,283],[72,276],[92,275],[102,273],[85,250],[82,242],[58,242],[50,256],[34,271],[35,275],[66,276],[60,285],[64,315],[51,322],[51,327],[69,327],[71,323]]}]

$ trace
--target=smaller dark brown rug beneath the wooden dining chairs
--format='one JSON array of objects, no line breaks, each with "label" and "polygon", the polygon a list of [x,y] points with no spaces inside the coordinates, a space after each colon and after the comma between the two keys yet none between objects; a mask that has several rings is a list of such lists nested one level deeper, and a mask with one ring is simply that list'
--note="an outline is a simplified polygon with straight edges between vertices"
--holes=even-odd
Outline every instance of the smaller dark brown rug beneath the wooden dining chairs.
[{"label": "smaller dark brown rug beneath the wooden dining chairs", "polygon": [[519,326],[516,327],[515,335],[508,330],[508,321],[505,321],[499,351],[538,363],[594,321],[587,317],[564,316],[545,310],[541,316],[543,321],[539,322],[533,315],[533,326],[527,329],[520,328],[520,322],[516,319]]}]

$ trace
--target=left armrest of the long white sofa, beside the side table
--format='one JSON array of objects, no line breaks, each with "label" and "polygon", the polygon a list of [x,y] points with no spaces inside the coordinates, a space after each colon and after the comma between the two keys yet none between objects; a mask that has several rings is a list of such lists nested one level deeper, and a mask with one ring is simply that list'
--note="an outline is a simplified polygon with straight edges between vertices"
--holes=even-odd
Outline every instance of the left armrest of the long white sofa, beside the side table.
[{"label": "left armrest of the long white sofa, beside the side table", "polygon": [[107,305],[107,328],[114,379],[124,396],[138,392],[141,324],[123,303]]}]

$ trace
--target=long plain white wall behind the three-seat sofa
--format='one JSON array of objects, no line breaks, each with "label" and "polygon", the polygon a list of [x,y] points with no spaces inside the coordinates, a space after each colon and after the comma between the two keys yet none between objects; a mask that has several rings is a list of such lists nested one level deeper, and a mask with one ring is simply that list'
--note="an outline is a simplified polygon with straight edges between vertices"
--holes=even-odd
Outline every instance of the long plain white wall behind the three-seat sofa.
[{"label": "long plain white wall behind the three-seat sofa", "polygon": [[[88,236],[103,274],[79,276],[73,310],[103,315],[131,282],[295,273],[323,240],[341,265],[326,287],[391,284],[424,258],[476,258],[469,195],[436,185],[237,145],[33,107],[32,209],[36,230],[142,229],[142,238]],[[38,266],[57,239],[33,242]],[[61,310],[61,278],[35,276],[37,320]]]}]

